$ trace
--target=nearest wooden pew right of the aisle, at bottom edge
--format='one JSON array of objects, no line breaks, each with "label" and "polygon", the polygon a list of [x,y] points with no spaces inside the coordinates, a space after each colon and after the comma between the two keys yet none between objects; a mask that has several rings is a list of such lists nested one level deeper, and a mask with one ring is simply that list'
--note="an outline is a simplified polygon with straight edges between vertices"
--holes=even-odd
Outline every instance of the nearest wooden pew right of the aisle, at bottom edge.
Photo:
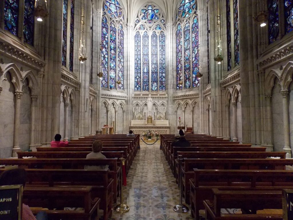
[{"label": "nearest wooden pew right of the aisle, at bottom edge", "polygon": [[[281,190],[212,189],[213,201],[204,200],[206,220],[283,219],[282,214],[257,214],[257,210],[282,209]],[[242,209],[242,214],[221,214],[221,209]],[[251,211],[249,211],[251,210]],[[243,213],[244,212],[244,213]]]}]

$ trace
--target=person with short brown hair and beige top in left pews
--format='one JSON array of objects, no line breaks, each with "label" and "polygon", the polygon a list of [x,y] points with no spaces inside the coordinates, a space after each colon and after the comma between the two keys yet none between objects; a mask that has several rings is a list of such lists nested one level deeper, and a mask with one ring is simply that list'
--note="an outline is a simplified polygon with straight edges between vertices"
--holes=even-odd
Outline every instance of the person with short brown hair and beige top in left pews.
[{"label": "person with short brown hair and beige top in left pews", "polygon": [[[86,159],[106,159],[105,155],[101,153],[103,149],[103,142],[96,140],[92,145],[92,152],[86,155]],[[100,166],[84,166],[85,170],[107,170],[109,165],[100,165]]]}]

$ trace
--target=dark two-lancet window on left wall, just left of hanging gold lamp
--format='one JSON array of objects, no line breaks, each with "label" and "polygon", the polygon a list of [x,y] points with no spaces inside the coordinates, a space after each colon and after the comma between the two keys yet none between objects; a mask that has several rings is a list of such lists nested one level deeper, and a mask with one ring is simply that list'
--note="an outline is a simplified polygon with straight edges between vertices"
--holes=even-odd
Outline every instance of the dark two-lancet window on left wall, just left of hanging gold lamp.
[{"label": "dark two-lancet window on left wall, just left of hanging gold lamp", "polygon": [[[74,0],[63,0],[62,65],[70,71],[73,71],[73,41]],[[69,53],[67,53],[67,48],[69,48]]]}]

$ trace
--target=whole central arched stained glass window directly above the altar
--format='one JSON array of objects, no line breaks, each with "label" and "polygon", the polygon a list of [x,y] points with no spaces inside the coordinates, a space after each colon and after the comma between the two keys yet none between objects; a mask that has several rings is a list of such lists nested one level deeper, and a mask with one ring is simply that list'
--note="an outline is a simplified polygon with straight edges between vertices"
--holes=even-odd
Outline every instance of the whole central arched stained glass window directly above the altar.
[{"label": "whole central arched stained glass window directly above the altar", "polygon": [[134,27],[134,91],[166,91],[166,26],[161,9],[146,5]]}]

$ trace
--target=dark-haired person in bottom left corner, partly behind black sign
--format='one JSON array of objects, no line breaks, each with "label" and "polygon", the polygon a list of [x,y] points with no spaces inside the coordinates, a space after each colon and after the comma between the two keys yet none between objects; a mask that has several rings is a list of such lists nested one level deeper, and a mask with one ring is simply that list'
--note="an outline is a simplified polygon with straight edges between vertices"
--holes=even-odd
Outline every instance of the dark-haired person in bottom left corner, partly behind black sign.
[{"label": "dark-haired person in bottom left corner, partly behind black sign", "polygon": [[[11,170],[6,170],[0,176],[0,185],[23,185],[25,186],[26,171],[22,168],[16,168]],[[47,213],[45,211],[40,211],[36,215],[30,210],[28,205],[22,204],[22,220],[48,220]]]}]

